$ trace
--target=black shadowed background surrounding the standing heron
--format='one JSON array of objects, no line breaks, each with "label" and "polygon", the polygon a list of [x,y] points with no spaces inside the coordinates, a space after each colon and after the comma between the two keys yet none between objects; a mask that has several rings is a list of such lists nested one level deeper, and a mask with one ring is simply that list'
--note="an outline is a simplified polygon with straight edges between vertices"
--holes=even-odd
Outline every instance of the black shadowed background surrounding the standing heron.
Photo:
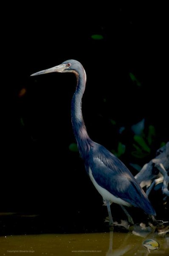
[{"label": "black shadowed background surrounding the standing heron", "polygon": [[[4,9],[0,211],[40,215],[48,232],[101,228],[107,209],[79,153],[69,149],[75,143],[70,102],[76,77],[30,77],[32,73],[67,59],[82,63],[87,73],[82,111],[88,134],[109,150],[117,150],[119,141],[126,145],[121,160],[133,175],[137,172],[130,163],[143,166],[169,140],[166,6],[83,4],[15,3]],[[94,40],[95,34],[103,39]],[[19,96],[23,88],[26,93]],[[145,133],[153,125],[156,135],[150,154],[137,159],[131,154],[131,126],[143,118]],[[165,218],[162,198],[162,193],[150,196]],[[123,217],[118,206],[113,205],[112,213]],[[130,213],[137,219],[137,209]]]}]

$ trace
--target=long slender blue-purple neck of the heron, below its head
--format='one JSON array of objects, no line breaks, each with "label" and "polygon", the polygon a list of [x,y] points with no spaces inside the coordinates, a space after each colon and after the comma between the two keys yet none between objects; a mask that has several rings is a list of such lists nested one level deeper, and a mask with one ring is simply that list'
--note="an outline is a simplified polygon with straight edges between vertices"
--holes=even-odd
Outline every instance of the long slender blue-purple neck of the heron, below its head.
[{"label": "long slender blue-purple neck of the heron, below its head", "polygon": [[80,75],[77,72],[74,73],[76,74],[77,78],[77,86],[72,98],[71,105],[72,125],[79,152],[82,158],[85,158],[88,151],[90,150],[90,145],[92,142],[87,134],[85,122],[82,116],[82,96],[85,91],[86,74],[85,70],[82,72],[83,75]]}]

